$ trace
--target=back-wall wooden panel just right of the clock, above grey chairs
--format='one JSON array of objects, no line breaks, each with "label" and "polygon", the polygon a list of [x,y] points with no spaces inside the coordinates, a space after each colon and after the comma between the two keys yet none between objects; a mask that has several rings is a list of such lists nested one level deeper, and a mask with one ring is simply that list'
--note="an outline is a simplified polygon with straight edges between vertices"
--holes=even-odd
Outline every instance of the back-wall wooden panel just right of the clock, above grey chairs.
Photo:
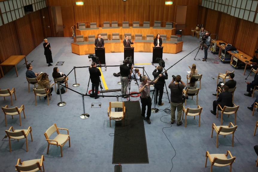
[{"label": "back-wall wooden panel just right of the clock, above grey chairs", "polygon": [[[136,10],[137,9],[137,10]],[[129,21],[133,25],[133,21],[139,21],[140,26],[143,22],[150,21],[150,6],[149,5],[125,5],[125,21]]]}]

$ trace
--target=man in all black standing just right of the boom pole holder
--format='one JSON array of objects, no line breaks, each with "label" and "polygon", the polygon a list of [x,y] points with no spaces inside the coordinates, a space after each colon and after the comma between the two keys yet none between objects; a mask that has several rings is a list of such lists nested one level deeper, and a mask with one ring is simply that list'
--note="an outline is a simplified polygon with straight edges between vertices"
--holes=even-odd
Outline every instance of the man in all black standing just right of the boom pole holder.
[{"label": "man in all black standing just right of the boom pole holder", "polygon": [[[158,70],[158,71],[157,71]],[[161,74],[163,71],[162,66],[157,66],[156,69],[152,72],[152,75],[154,78],[158,77],[159,74]],[[157,103],[157,98],[158,98],[158,93],[159,93],[159,102],[158,106],[162,106],[164,103],[162,102],[162,96],[163,96],[163,91],[164,91],[164,85],[165,85],[165,80],[168,79],[168,74],[167,71],[165,71],[165,75],[161,75],[160,79],[157,81],[157,83],[154,84],[154,87],[156,88],[156,102]]]}]

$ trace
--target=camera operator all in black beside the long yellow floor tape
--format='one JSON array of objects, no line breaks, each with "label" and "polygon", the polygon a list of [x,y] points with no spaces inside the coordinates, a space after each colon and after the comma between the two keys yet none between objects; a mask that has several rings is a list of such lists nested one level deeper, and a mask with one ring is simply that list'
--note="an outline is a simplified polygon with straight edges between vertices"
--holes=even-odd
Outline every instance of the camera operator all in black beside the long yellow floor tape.
[{"label": "camera operator all in black beside the long yellow floor tape", "polygon": [[[97,63],[92,62],[89,67],[89,77],[92,83],[92,96],[90,97],[95,97],[95,99],[99,98],[98,96],[98,86],[100,82],[99,76],[101,76],[101,73],[97,68]],[[95,94],[94,94],[94,89],[95,89]]]}]

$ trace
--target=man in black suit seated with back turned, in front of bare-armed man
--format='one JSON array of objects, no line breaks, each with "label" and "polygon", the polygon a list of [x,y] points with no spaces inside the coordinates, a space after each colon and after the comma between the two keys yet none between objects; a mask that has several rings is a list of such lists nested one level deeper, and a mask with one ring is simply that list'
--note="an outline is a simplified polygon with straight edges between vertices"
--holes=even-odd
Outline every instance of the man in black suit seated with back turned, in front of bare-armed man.
[{"label": "man in black suit seated with back turned, in front of bare-armed man", "polygon": [[[221,106],[221,108],[223,108],[224,106],[228,106],[228,107],[233,107],[233,103],[232,103],[232,93],[228,92],[228,86],[223,86],[223,92],[220,93],[218,100],[213,101],[213,110],[211,110],[210,112],[213,115],[216,115],[216,109],[218,104]],[[221,109],[218,109],[221,110]]]}]

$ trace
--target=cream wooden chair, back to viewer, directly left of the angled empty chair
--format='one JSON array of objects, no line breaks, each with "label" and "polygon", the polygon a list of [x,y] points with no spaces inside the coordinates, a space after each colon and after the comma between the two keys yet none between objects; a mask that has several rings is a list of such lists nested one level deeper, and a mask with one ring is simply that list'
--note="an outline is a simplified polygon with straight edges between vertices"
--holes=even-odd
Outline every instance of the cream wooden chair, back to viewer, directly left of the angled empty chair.
[{"label": "cream wooden chair, back to viewer, directly left of the angled empty chair", "polygon": [[[28,152],[28,135],[29,133],[31,133],[31,126],[28,127],[27,130],[22,129],[22,130],[13,130],[13,127],[10,127],[9,130],[5,130],[6,135],[9,138],[9,148],[10,148],[10,152],[12,152],[11,149],[11,139],[15,139],[15,140],[20,140],[25,138],[26,139],[26,147],[27,147],[27,152]],[[33,141],[32,138],[32,134],[31,134],[31,141]]]}]

